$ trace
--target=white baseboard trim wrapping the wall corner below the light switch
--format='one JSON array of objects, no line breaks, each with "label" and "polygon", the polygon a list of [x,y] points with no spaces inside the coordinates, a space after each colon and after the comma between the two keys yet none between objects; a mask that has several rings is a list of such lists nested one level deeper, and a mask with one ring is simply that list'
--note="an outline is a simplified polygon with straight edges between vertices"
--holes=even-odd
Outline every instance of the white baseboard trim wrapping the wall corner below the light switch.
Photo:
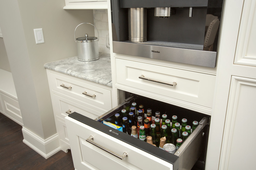
[{"label": "white baseboard trim wrapping the wall corner below the light switch", "polygon": [[22,127],[22,133],[24,137],[23,143],[46,159],[61,150],[57,133],[47,139],[42,139],[24,127]]}]

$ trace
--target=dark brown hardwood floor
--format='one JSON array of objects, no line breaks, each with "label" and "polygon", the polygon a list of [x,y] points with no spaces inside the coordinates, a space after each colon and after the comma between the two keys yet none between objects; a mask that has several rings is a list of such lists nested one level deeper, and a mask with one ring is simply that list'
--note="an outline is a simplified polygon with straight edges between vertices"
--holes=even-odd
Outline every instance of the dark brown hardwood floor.
[{"label": "dark brown hardwood floor", "polygon": [[22,142],[22,126],[0,113],[0,169],[74,169],[71,151],[45,159]]}]

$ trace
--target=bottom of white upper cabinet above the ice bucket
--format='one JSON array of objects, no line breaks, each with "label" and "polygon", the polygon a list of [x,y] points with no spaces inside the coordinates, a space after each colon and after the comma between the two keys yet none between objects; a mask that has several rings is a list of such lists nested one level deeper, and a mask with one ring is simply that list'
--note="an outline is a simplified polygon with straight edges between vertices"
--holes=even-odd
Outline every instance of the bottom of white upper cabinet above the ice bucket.
[{"label": "bottom of white upper cabinet above the ice bucket", "polygon": [[63,9],[107,9],[107,1],[103,0],[65,0]]}]

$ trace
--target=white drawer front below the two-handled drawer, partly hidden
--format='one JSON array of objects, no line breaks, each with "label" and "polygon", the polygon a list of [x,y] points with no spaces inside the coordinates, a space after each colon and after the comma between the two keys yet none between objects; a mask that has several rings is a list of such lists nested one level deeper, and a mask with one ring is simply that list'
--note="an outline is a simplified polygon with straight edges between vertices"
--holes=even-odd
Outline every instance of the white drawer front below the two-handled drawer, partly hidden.
[{"label": "white drawer front below the two-handled drawer, partly hidden", "polygon": [[[91,119],[95,119],[104,113],[104,110],[101,108],[98,108],[96,110],[56,94],[53,94],[53,100],[55,105],[56,116],[58,116],[58,118],[62,119],[63,121],[65,121],[65,117],[68,116],[69,113],[73,112],[77,112]],[[98,110],[100,110],[101,112],[99,112]]]}]

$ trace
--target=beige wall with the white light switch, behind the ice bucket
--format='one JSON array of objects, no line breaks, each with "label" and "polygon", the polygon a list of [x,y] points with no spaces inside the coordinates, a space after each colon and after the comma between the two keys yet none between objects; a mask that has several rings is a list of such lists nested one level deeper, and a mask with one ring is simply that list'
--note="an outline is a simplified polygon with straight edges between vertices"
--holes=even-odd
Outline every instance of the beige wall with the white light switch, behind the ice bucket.
[{"label": "beige wall with the white light switch, behind the ice bucket", "polygon": [[[24,127],[42,139],[56,133],[43,66],[76,56],[76,26],[82,22],[93,23],[92,10],[63,10],[64,6],[64,0],[0,1],[0,27]],[[43,44],[35,44],[33,29],[37,28],[43,29]],[[94,33],[93,28],[86,29]]]}]

